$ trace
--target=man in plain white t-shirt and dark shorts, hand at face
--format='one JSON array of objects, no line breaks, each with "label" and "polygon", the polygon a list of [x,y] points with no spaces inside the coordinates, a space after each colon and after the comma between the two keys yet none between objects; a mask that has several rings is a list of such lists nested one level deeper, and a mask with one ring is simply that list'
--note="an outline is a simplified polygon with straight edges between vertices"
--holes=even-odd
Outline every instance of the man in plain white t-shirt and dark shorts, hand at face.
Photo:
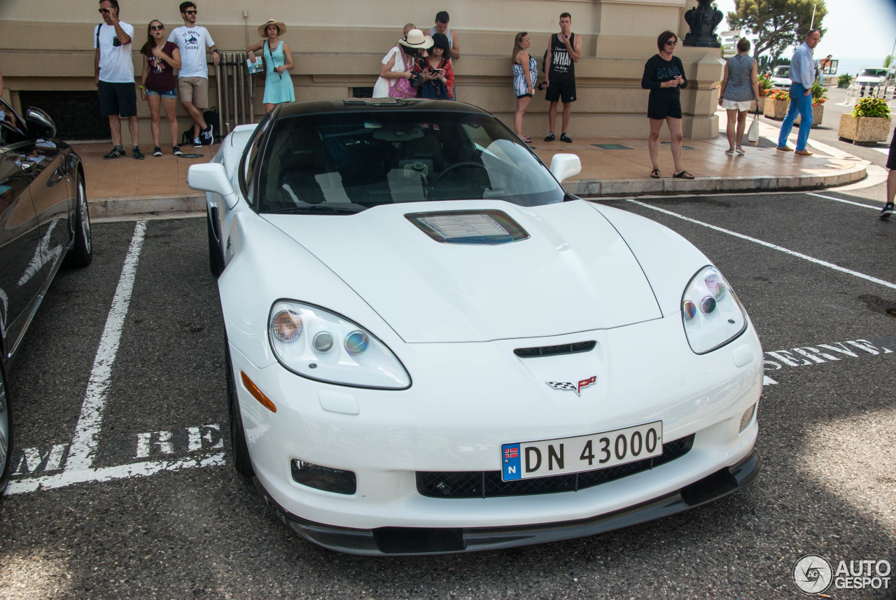
[{"label": "man in plain white t-shirt and dark shorts, hand at face", "polygon": [[131,130],[134,159],[142,159],[143,153],[137,145],[139,123],[137,122],[137,91],[134,88],[134,59],[131,57],[131,41],[134,28],[118,19],[118,0],[100,0],[99,13],[103,24],[93,29],[93,47],[96,48],[94,67],[97,90],[99,92],[99,114],[108,116],[112,133],[112,149],[104,159],[118,159],[125,156],[121,143],[121,118],[127,118]]}]

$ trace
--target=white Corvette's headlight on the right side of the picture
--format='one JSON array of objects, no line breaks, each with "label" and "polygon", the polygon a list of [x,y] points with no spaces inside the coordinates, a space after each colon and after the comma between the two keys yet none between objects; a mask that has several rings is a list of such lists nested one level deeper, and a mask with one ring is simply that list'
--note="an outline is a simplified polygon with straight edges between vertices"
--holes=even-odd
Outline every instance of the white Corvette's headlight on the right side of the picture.
[{"label": "white Corvette's headlight on the right side of the picture", "polygon": [[746,329],[744,307],[714,267],[703,267],[687,284],[681,314],[687,343],[696,354],[725,346]]}]

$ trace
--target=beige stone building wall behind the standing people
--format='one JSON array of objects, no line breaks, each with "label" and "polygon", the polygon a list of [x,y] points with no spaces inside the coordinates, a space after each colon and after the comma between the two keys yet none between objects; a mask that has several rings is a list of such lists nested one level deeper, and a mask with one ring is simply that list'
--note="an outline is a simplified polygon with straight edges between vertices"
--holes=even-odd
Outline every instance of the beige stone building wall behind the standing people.
[{"label": "beige stone building wall behind the standing people", "polygon": [[[139,81],[142,56],[138,50],[146,40],[149,21],[163,21],[166,30],[181,25],[179,2],[119,3],[121,19],[134,25],[134,70]],[[406,22],[423,29],[433,24],[437,10],[448,11],[461,47],[461,58],[454,64],[459,98],[486,108],[506,124],[512,123],[515,106],[511,85],[515,33],[529,32],[530,53],[540,68],[548,39],[559,29],[560,13],[571,13],[573,32],[582,36],[582,60],[575,67],[578,99],[570,128],[574,138],[647,134],[643,64],[657,52],[656,39],[663,30],[685,38],[684,13],[696,0],[449,0],[427,3],[426,8],[409,0],[196,0],[196,4],[197,23],[210,30],[224,52],[245,52],[258,39],[258,25],[271,18],[284,21],[289,31],[283,39],[289,42],[296,63],[292,79],[297,100],[363,94],[373,87],[381,59]],[[22,108],[24,101],[51,98],[58,105],[57,114],[95,120],[89,113],[95,90],[92,29],[101,22],[98,6],[93,0],[2,0],[4,99]],[[717,84],[724,66],[719,48],[679,44],[676,55],[690,80],[682,91],[685,137],[715,137],[719,133]],[[215,85],[212,74],[212,104]],[[255,86],[252,112],[257,120],[263,114],[263,79],[256,79]],[[147,143],[151,140],[149,109],[139,97],[138,109],[142,143]],[[547,132],[546,115],[544,92],[536,92],[525,117],[525,131],[533,136]],[[185,130],[189,121],[185,113],[181,117]]]}]

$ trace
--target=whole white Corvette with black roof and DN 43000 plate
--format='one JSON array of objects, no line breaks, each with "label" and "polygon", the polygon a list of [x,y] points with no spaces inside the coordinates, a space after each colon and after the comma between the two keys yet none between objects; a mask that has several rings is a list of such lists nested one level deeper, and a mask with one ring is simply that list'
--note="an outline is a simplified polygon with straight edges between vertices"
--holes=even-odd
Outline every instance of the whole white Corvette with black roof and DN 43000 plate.
[{"label": "whole white Corvette with black roof and DN 43000 plate", "polygon": [[494,116],[323,100],[210,164],[237,470],[297,535],[451,553],[626,527],[759,472],[762,348],[681,236]]}]

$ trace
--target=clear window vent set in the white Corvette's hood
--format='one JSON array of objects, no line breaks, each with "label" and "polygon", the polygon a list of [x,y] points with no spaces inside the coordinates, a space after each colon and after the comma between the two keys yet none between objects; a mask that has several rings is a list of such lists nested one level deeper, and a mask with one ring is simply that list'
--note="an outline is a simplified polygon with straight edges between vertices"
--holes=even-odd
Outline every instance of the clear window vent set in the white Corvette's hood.
[{"label": "clear window vent set in the white Corvette's hood", "polygon": [[501,210],[445,210],[405,215],[442,244],[498,245],[528,239],[520,224]]}]

